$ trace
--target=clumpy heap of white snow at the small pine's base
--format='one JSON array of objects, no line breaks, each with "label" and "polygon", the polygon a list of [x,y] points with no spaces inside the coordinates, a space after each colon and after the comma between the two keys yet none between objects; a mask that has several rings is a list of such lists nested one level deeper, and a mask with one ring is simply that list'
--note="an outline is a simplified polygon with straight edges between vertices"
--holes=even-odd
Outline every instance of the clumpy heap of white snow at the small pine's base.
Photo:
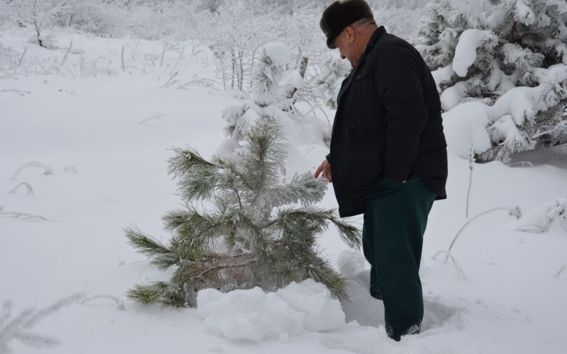
[{"label": "clumpy heap of white snow at the small pine's base", "polygon": [[198,292],[197,314],[205,328],[231,339],[286,341],[303,330],[332,331],[344,326],[340,302],[313,280],[292,282],[277,292],[215,289]]}]

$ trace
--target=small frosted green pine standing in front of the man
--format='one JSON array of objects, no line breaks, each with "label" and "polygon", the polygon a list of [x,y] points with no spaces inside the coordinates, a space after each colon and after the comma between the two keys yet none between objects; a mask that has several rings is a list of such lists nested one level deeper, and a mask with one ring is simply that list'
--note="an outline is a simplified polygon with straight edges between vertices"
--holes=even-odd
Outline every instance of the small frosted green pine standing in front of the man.
[{"label": "small frosted green pine standing in front of the man", "polygon": [[359,229],[335,210],[314,205],[325,194],[324,181],[310,173],[283,181],[281,143],[277,125],[259,120],[242,154],[206,161],[193,149],[174,150],[169,173],[185,206],[163,217],[171,241],[162,244],[135,228],[125,234],[152,264],[175,271],[169,282],[136,285],[129,299],[194,307],[198,290],[208,287],[276,290],[313,278],[347,300],[347,280],[322,258],[317,237],[334,224],[349,246],[359,248]]}]

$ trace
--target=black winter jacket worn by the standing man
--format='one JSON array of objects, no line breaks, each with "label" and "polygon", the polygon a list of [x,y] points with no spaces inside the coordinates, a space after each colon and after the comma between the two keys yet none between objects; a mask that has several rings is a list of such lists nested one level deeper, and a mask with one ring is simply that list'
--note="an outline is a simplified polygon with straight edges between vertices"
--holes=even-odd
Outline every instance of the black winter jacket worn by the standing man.
[{"label": "black winter jacket worn by the standing man", "polygon": [[341,217],[364,212],[383,178],[417,175],[437,199],[447,198],[439,93],[412,45],[378,28],[337,102],[327,159]]}]

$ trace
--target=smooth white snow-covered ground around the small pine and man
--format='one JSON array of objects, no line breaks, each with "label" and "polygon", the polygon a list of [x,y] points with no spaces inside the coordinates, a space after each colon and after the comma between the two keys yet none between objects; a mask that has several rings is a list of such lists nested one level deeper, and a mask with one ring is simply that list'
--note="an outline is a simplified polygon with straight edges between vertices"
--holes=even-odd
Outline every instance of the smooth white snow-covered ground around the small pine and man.
[{"label": "smooth white snow-covered ground around the small pine and man", "polygon": [[[213,154],[221,111],[238,94],[221,89],[210,53],[193,42],[162,56],[164,42],[58,35],[52,51],[30,35],[0,37],[16,64],[28,48],[0,76],[0,353],[565,353],[567,222],[516,229],[545,221],[537,207],[567,195],[567,171],[476,164],[467,219],[468,161],[453,152],[449,199],[435,203],[425,234],[418,335],[388,339],[368,265],[332,229],[320,244],[350,279],[342,309],[309,281],[272,294],[206,290],[199,309],[125,301],[135,283],[168,274],[126,244],[123,227],[167,239],[160,218],[180,203],[169,148]],[[325,154],[301,149],[313,169]],[[332,186],[323,205],[335,207]],[[534,213],[478,217],[454,261],[434,257],[475,215],[515,206]]]}]

